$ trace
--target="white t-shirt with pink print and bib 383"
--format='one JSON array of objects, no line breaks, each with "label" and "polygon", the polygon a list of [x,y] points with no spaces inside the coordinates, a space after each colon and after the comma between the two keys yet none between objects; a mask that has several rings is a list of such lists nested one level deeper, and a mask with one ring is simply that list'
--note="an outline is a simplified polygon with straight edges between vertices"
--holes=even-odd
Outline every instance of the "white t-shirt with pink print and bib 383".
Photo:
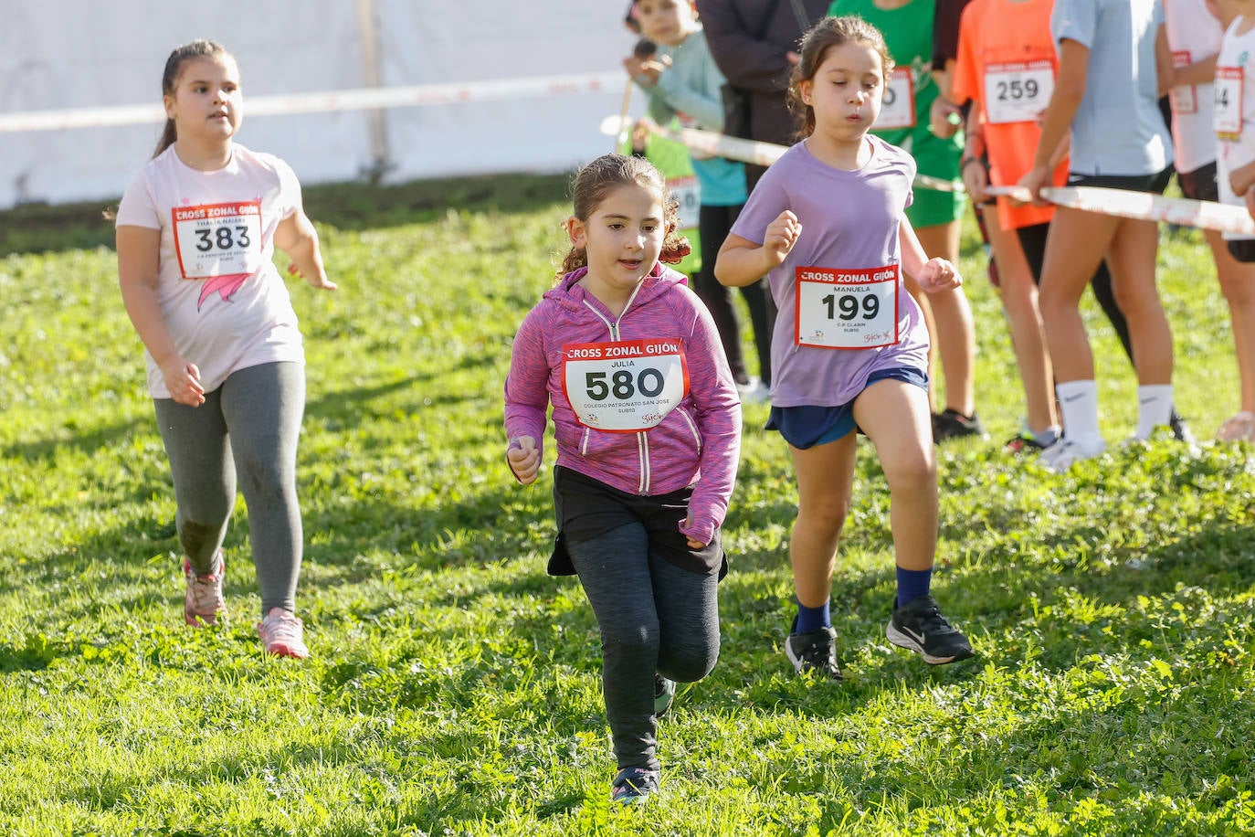
[{"label": "white t-shirt with pink print and bib 383", "polygon": [[[178,353],[201,370],[205,392],[237,369],[304,363],[287,286],[275,269],[275,228],[301,206],[284,161],[232,143],[212,172],[186,166],[171,146],[127,187],[118,226],[161,230],[157,301]],[[169,398],[148,361],[148,392]]]}]

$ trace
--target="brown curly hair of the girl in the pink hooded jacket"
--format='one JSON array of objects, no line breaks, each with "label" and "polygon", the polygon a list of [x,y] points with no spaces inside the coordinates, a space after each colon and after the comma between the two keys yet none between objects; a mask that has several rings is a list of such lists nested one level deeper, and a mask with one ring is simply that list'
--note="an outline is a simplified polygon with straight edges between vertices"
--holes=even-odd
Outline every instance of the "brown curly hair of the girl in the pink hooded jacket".
[{"label": "brown curly hair of the girl in the pink hooded jacket", "polygon": [[[663,238],[663,252],[658,257],[659,261],[674,265],[693,252],[689,240],[676,232],[680,205],[668,192],[666,179],[654,168],[653,163],[643,157],[602,154],[576,172],[575,179],[571,182],[572,215],[581,222],[586,222],[611,189],[620,186],[639,186],[663,205],[663,226],[666,228],[666,236]],[[589,253],[582,247],[571,247],[566,259],[562,260],[562,270],[557,275],[562,277],[587,264]]]}]

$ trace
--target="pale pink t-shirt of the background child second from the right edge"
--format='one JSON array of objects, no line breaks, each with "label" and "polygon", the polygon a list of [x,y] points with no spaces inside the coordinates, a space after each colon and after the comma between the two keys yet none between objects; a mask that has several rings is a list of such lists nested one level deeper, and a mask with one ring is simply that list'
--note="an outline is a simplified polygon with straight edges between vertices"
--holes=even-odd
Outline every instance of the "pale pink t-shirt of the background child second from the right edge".
[{"label": "pale pink t-shirt of the background child second from the right edge", "polygon": [[[1220,49],[1224,29],[1207,9],[1206,0],[1163,0],[1163,23],[1172,63],[1177,67],[1201,61]],[[1212,85],[1175,87],[1168,98],[1172,103],[1172,147],[1177,171],[1194,172],[1215,162]]]}]

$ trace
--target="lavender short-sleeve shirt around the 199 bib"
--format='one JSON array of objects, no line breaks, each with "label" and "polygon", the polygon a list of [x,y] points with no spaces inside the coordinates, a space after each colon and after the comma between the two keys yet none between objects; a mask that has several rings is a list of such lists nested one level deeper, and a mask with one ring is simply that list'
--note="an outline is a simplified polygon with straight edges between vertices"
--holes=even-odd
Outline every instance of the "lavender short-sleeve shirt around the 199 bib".
[{"label": "lavender short-sleeve shirt around the 199 bib", "polygon": [[872,157],[847,172],[816,159],[799,142],[754,187],[732,232],[762,243],[767,226],[784,210],[802,222],[802,235],[782,265],[768,274],[779,309],[772,335],[772,404],[836,407],[852,402],[867,376],[882,369],[927,370],[924,316],[897,280],[897,343],[872,349],[798,345],[798,267],[857,270],[901,264],[899,228],[911,203],[915,161],[868,134]]}]

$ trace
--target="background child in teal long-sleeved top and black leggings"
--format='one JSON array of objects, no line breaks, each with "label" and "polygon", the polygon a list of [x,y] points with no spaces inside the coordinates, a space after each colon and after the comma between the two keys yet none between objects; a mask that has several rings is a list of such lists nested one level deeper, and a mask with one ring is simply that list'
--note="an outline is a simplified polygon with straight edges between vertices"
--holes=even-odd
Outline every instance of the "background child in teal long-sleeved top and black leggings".
[{"label": "background child in teal long-sleeved top and black leggings", "polygon": [[[649,115],[660,125],[679,119],[685,128],[723,131],[725,79],[710,55],[705,33],[695,18],[692,0],[635,0],[633,11],[641,34],[658,45],[653,55],[631,55],[624,67],[649,98]],[[749,307],[758,351],[759,379],[753,379],[740,350],[740,323],[730,289],[712,272],[719,245],[745,202],[745,167],[723,157],[692,153],[698,177],[702,265],[693,277],[693,290],[710,310],[728,365],[742,398],[767,400],[771,381],[771,334],[776,310],[763,282],[740,289]]]}]

